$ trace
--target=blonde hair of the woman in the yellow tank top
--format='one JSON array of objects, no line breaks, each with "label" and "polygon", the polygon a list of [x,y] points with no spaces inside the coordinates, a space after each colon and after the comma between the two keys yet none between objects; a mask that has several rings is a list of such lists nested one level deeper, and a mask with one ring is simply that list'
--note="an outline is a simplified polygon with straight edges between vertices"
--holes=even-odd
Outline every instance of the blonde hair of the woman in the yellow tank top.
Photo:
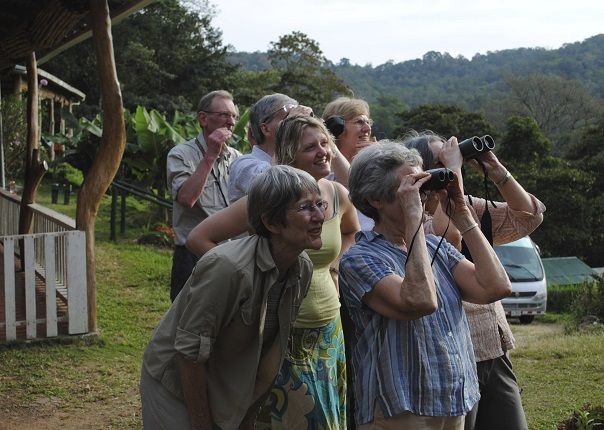
[{"label": "blonde hair of the woman in the yellow tank top", "polygon": [[287,164],[290,166],[294,164],[298,148],[300,148],[300,144],[302,143],[302,134],[306,127],[319,129],[327,137],[329,147],[333,152],[335,143],[323,121],[311,116],[285,118],[277,129],[277,137],[275,139],[275,160],[277,164]]}]

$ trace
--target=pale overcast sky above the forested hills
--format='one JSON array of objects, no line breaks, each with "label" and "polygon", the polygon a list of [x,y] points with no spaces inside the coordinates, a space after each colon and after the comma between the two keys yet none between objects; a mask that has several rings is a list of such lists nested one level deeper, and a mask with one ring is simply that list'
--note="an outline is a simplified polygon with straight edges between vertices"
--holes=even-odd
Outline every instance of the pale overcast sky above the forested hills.
[{"label": "pale overcast sky above the forested hills", "polygon": [[604,33],[604,0],[222,0],[212,23],[236,51],[266,51],[292,31],[337,63],[377,66],[428,51],[470,59],[559,48]]}]

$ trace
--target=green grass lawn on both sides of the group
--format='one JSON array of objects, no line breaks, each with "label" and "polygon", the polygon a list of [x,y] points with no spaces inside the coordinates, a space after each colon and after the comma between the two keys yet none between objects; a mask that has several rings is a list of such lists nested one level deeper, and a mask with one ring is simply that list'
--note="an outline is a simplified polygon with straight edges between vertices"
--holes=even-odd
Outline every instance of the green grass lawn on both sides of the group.
[{"label": "green grass lawn on both sides of the group", "polygon": [[[43,192],[39,202],[45,198]],[[169,306],[171,252],[137,245],[132,238],[141,229],[134,227],[126,239],[108,242],[108,201],[98,221],[100,336],[0,346],[2,430],[141,428],[141,356]],[[129,222],[145,219],[136,214],[138,204],[131,203]],[[512,328],[518,341],[512,361],[531,430],[555,429],[584,403],[604,405],[604,333],[565,334],[559,318]]]}]

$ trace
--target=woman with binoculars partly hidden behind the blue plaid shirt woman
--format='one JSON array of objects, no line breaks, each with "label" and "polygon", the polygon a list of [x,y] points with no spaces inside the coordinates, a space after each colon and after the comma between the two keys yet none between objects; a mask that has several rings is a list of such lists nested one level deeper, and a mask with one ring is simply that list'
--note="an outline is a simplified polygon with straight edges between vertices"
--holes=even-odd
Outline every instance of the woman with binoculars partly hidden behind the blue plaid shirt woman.
[{"label": "woman with binoculars partly hidden behind the blue plaid shirt woman", "polygon": [[[445,140],[432,132],[423,132],[409,135],[403,143],[408,148],[417,149],[422,156],[424,169],[447,167],[456,173],[460,181],[462,180],[464,154],[460,146],[465,145],[465,148],[472,145],[471,139],[458,144],[455,137]],[[483,140],[483,145],[484,143]],[[484,152],[463,152],[466,161],[479,172],[484,172],[495,184],[504,201],[495,202],[488,207],[486,199],[469,195],[466,195],[465,199],[472,217],[479,226],[488,210],[492,231],[485,232],[485,235],[488,237],[492,234],[493,244],[499,245],[533,232],[543,221],[545,205],[526,192],[490,150],[494,147],[490,136],[486,143],[484,146],[491,148],[482,148]],[[476,142],[476,146],[480,145]],[[445,210],[437,201],[426,205],[426,211],[434,215],[431,222],[429,220],[425,223],[426,233],[444,234],[450,243],[461,249],[461,234],[449,224]],[[481,226],[483,230],[486,230],[486,227]],[[466,416],[465,429],[528,429],[520,389],[507,354],[508,350],[514,348],[514,336],[501,302],[486,305],[464,302],[464,309],[474,345],[481,393],[480,401]]]}]

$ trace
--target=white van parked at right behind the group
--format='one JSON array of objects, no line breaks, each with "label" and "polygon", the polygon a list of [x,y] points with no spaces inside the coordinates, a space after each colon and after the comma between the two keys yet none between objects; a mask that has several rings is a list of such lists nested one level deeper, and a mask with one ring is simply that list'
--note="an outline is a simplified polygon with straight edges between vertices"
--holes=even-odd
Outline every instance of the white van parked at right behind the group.
[{"label": "white van parked at right behind the group", "polygon": [[530,324],[535,315],[545,313],[547,283],[539,250],[528,236],[495,246],[495,253],[512,283],[512,294],[501,300],[508,317]]}]

